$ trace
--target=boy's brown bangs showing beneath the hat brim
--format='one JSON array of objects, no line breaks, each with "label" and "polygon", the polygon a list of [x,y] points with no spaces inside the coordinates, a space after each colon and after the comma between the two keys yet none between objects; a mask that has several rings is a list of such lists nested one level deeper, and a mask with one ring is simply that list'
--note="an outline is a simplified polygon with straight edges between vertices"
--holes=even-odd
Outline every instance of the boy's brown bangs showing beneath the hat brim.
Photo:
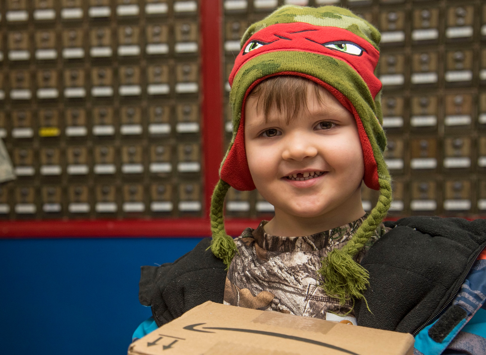
[{"label": "boy's brown bangs showing beneath the hat brim", "polygon": [[263,112],[265,121],[270,110],[277,109],[289,124],[302,109],[308,110],[308,88],[312,86],[317,100],[322,103],[320,85],[295,75],[278,75],[263,80],[249,94],[257,98],[257,113]]}]

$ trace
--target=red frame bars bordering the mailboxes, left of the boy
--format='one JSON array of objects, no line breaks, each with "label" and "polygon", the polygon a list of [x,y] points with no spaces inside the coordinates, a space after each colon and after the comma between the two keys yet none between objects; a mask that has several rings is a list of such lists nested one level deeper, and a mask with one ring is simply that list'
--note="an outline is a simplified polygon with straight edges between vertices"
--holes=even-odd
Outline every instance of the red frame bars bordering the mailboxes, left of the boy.
[{"label": "red frame bars bordering the mailboxes, left of the boy", "polygon": [[[222,6],[221,0],[200,0],[202,59],[202,151],[204,155],[204,217],[124,220],[31,220],[0,222],[0,238],[203,237],[210,236],[211,194],[223,158]],[[216,45],[215,45],[216,44]],[[240,235],[259,220],[230,219],[226,231]]]}]

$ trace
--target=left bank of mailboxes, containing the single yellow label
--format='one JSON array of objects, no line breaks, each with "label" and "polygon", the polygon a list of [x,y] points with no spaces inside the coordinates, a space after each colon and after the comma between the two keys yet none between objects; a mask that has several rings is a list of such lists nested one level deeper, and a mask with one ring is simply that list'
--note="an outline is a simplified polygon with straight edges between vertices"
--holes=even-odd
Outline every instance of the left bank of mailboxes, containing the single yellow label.
[{"label": "left bank of mailboxes, containing the single yellow label", "polygon": [[200,20],[160,4],[5,1],[0,138],[19,174],[1,218],[202,215]]}]

